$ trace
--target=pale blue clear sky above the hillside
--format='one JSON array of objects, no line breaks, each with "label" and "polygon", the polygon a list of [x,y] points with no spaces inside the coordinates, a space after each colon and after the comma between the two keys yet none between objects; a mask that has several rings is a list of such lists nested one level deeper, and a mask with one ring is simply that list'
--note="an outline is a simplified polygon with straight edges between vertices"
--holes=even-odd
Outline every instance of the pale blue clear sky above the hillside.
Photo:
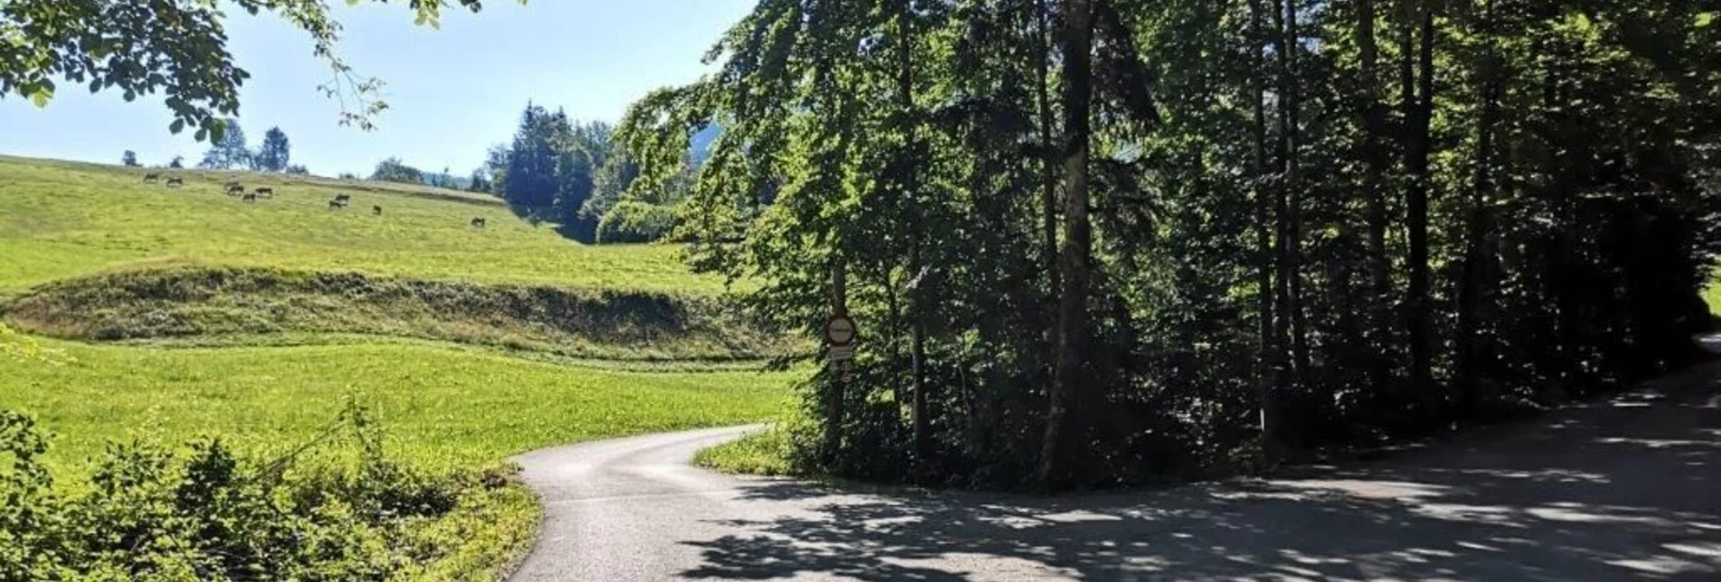
[{"label": "pale blue clear sky above the hillside", "polygon": [[[580,121],[616,122],[647,91],[697,79],[718,36],[750,0],[487,0],[484,10],[446,9],[441,29],[413,26],[404,2],[330,2],[341,21],[341,55],[360,76],[380,77],[389,110],[377,131],[339,126],[341,107],[317,86],[329,67],[279,17],[227,10],[229,50],[251,72],[239,90],[239,124],[255,148],[279,126],[293,164],[313,174],[368,176],[377,162],[466,176],[490,145],[506,143],[527,102],[561,107]],[[126,150],[145,165],[174,155],[196,164],[207,145],[167,131],[163,95],[127,103],[62,83],[46,108],[0,96],[0,153],[119,164]]]}]

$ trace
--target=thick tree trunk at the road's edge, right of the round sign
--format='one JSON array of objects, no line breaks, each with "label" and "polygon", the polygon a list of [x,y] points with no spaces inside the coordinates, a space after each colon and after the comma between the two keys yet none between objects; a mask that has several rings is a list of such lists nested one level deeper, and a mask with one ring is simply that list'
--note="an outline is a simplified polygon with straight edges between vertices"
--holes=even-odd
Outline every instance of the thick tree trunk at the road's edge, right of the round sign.
[{"label": "thick tree trunk at the road's edge, right of the round sign", "polygon": [[1088,403],[1083,368],[1088,344],[1088,141],[1093,100],[1093,5],[1064,0],[1064,248],[1058,267],[1064,277],[1058,298],[1058,351],[1052,377],[1046,434],[1039,451],[1038,479],[1048,486],[1069,484],[1076,441],[1086,429]]}]

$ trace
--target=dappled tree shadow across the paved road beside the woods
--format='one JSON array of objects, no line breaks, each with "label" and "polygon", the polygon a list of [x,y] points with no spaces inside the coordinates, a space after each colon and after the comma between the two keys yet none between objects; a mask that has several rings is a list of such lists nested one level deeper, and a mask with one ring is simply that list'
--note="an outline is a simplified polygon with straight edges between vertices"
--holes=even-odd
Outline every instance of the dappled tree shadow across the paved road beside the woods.
[{"label": "dappled tree shadow across the paved road beside the woods", "polygon": [[757,482],[737,501],[805,510],[683,541],[704,558],[683,577],[1714,580],[1716,377],[1265,480],[1081,498]]}]

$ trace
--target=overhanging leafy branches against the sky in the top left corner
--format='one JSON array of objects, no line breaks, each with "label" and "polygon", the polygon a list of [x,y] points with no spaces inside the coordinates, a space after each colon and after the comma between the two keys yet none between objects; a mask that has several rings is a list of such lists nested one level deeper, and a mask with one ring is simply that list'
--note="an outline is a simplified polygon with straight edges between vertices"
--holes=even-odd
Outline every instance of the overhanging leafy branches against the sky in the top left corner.
[{"label": "overhanging leafy branches against the sky in the top left corner", "polygon": [[[379,0],[387,2],[387,0]],[[478,10],[478,0],[460,0]],[[435,26],[444,2],[411,2],[418,24]],[[342,103],[341,124],[370,129],[370,119],[387,105],[377,100],[380,83],[358,79],[334,52],[341,26],[318,0],[239,2],[268,10],[312,36],[313,53],[329,64],[337,81],[320,88]],[[174,112],[169,131],[196,127],[196,139],[220,138],[222,115],[239,112],[239,86],[251,74],[232,62],[222,21],[227,14],[203,0],[163,0],[148,10],[120,10],[102,2],[12,0],[0,3],[0,95],[19,95],[46,107],[55,79],[88,84],[91,91],[119,90],[126,100],[162,91]],[[172,74],[163,74],[170,71]]]}]

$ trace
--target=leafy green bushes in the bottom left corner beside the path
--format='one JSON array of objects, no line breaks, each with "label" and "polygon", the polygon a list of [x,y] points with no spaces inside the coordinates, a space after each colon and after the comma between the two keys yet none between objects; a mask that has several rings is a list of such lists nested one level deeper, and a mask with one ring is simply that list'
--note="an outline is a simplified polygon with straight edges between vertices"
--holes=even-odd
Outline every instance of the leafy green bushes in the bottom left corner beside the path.
[{"label": "leafy green bushes in the bottom left corner beside the path", "polygon": [[444,556],[470,561],[466,541],[437,525],[485,506],[509,479],[416,472],[382,455],[361,408],[341,420],[329,434],[353,429],[353,461],[133,441],[110,444],[88,487],[69,492],[40,461],[48,437],[0,410],[0,580],[401,580],[437,572]]}]

